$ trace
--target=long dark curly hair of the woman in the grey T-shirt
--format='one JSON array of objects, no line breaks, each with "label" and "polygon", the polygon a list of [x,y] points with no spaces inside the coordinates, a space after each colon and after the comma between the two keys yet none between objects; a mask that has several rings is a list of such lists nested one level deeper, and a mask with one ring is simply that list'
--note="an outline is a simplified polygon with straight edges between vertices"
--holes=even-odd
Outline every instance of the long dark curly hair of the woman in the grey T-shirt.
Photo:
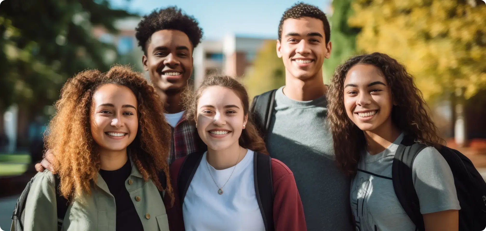
[{"label": "long dark curly hair of the woman in the grey T-shirt", "polygon": [[406,134],[436,148],[443,142],[428,115],[428,106],[405,66],[383,53],[358,55],[336,68],[329,87],[328,117],[339,167],[348,175],[356,173],[361,151],[365,148],[364,132],[346,114],[344,81],[347,72],[357,64],[378,67],[390,86],[394,105],[392,122]]}]

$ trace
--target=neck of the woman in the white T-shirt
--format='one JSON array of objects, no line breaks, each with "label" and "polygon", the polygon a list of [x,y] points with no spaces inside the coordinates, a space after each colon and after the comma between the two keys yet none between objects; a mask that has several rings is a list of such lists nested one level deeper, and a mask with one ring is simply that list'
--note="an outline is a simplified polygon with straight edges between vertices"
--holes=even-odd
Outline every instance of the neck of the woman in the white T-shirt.
[{"label": "neck of the woman in the white T-shirt", "polygon": [[245,157],[246,151],[238,142],[225,150],[214,150],[208,147],[206,160],[217,170],[226,169],[240,163]]}]

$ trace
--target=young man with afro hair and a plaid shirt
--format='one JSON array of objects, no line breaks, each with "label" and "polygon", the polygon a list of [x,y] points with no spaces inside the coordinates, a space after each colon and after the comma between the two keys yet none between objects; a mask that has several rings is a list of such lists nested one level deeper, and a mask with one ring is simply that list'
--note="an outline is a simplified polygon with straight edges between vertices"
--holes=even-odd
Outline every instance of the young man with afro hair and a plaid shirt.
[{"label": "young man with afro hair and a plaid shirt", "polygon": [[170,163],[206,146],[195,125],[185,119],[182,92],[192,73],[192,52],[203,31],[197,20],[177,7],[144,16],[135,36],[143,50],[142,63],[161,100],[172,128]]}]

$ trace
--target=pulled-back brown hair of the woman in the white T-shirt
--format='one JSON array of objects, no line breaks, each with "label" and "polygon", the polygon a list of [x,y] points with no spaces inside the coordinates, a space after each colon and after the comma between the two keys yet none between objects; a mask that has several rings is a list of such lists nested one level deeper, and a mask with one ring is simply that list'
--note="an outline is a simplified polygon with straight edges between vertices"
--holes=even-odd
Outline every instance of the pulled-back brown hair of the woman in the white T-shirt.
[{"label": "pulled-back brown hair of the woman in the white T-shirt", "polygon": [[259,135],[255,127],[255,123],[253,123],[251,113],[248,113],[250,110],[248,93],[246,92],[243,84],[235,80],[233,77],[219,74],[211,74],[201,83],[196,91],[192,92],[189,89],[186,90],[184,92],[183,101],[186,108],[187,119],[190,121],[196,121],[197,102],[199,101],[199,98],[201,97],[204,89],[210,86],[222,86],[229,88],[233,90],[236,95],[242,100],[243,113],[244,115],[248,115],[248,121],[246,122],[245,129],[243,129],[242,134],[239,138],[239,143],[241,147],[268,155],[267,148],[265,147],[265,142]]}]

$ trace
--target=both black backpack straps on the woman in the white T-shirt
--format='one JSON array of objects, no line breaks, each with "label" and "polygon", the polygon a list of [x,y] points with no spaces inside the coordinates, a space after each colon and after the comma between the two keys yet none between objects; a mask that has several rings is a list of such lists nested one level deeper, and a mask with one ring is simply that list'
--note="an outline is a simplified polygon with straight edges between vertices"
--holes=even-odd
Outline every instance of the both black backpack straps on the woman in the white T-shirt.
[{"label": "both black backpack straps on the woman in the white T-shirt", "polygon": [[[193,152],[186,157],[177,175],[180,204],[184,203],[186,192],[191,184],[194,173],[203,158],[204,152]],[[273,201],[274,190],[272,180],[272,158],[270,156],[255,152],[253,160],[253,175],[255,180],[255,193],[258,206],[260,207],[263,224],[266,231],[274,231]]]}]

